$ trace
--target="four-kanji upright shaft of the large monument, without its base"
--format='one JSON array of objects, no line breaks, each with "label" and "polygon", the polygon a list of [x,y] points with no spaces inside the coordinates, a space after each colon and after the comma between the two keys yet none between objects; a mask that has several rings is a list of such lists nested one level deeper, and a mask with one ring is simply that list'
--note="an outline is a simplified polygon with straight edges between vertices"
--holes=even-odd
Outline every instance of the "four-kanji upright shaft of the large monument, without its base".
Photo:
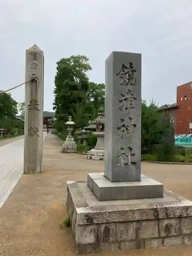
[{"label": "four-kanji upright shaft of the large monument, without its base", "polygon": [[112,52],[105,61],[105,176],[141,180],[141,54]]}]

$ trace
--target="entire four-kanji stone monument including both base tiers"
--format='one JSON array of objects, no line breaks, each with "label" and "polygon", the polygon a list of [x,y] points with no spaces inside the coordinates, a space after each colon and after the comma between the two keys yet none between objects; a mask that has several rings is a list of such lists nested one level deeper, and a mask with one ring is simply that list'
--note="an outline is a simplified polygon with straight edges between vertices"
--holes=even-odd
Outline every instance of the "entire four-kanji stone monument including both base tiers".
[{"label": "entire four-kanji stone monument including both base tiers", "polygon": [[192,202],[141,175],[141,54],[105,62],[104,173],[67,184],[78,254],[192,244]]}]

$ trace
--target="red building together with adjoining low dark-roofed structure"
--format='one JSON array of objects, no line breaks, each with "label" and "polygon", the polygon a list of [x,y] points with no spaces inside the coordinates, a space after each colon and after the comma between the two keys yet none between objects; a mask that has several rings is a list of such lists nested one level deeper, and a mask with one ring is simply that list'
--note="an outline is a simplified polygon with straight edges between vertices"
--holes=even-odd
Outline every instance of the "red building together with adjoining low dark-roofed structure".
[{"label": "red building together with adjoining low dark-roofed structure", "polygon": [[159,111],[169,115],[175,134],[190,133],[189,125],[192,125],[192,82],[178,86],[177,103],[160,108]]}]

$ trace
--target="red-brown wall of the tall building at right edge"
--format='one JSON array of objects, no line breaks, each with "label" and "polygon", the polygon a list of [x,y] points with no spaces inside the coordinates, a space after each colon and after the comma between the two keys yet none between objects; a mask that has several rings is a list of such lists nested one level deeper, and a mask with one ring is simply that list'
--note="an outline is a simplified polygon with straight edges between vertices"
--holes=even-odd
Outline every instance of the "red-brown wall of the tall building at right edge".
[{"label": "red-brown wall of the tall building at right edge", "polygon": [[189,123],[192,123],[192,82],[177,87],[177,104],[179,108],[175,132],[189,133]]}]

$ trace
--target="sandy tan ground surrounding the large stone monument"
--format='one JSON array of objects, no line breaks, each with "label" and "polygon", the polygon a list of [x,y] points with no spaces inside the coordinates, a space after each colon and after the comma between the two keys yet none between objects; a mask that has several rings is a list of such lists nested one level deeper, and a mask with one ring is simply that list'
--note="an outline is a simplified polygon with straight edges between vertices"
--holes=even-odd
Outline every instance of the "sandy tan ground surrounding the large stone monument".
[{"label": "sandy tan ground surrounding the large stone monument", "polygon": [[[103,171],[103,161],[62,154],[61,141],[48,134],[44,141],[44,173],[23,175],[0,209],[1,256],[75,255],[70,229],[59,225],[67,217],[66,181],[86,180],[88,172]],[[192,166],[142,163],[142,173],[192,200]],[[189,256],[192,247],[131,250],[97,256]]]}]

